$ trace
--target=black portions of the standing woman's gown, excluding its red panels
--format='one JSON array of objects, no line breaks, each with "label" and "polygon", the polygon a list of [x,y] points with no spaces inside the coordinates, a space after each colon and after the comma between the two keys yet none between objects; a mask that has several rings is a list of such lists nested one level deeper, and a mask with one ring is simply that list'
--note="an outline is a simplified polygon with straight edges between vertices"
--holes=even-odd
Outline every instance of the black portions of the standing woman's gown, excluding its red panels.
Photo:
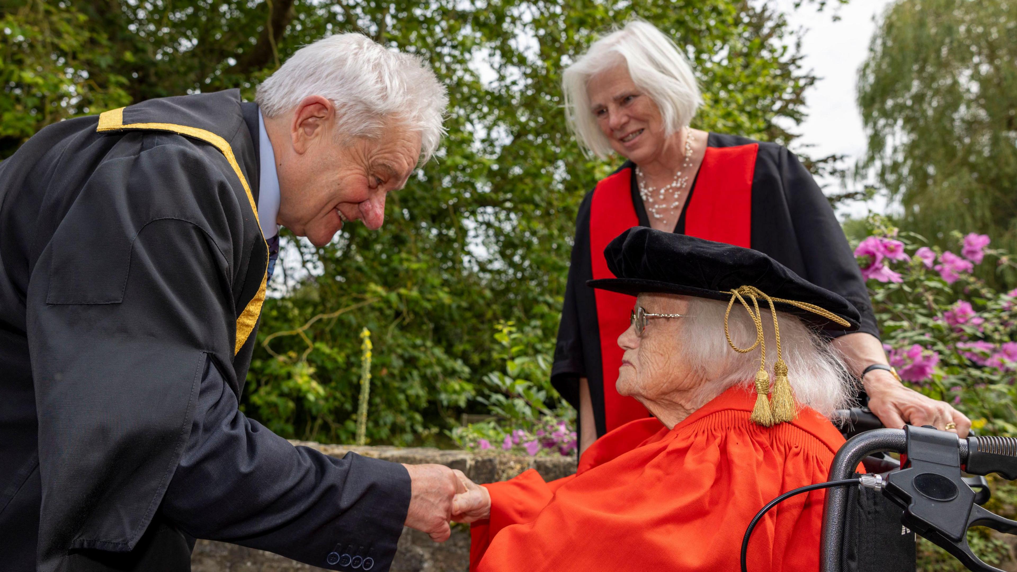
[{"label": "black portions of the standing woman's gown, excluding its red panels", "polygon": [[[869,291],[844,231],[823,191],[794,154],[776,144],[719,133],[710,133],[707,145],[710,148],[759,145],[752,175],[751,247],[769,254],[813,284],[843,296],[861,313],[859,331],[879,337]],[[650,226],[639,194],[635,165],[626,162],[618,171],[626,168],[632,173],[632,201],[639,224]],[[686,210],[697,191],[700,175],[693,182],[685,201]],[[592,197],[591,190],[580,205],[576,222],[576,240],[551,383],[578,409],[579,379],[588,379],[594,421],[600,437],[613,428],[607,427],[605,422],[604,384],[613,385],[617,371],[611,371],[610,379],[605,380],[594,290],[586,285],[593,278],[590,255]],[[681,213],[674,232],[685,232],[685,212]]]}]

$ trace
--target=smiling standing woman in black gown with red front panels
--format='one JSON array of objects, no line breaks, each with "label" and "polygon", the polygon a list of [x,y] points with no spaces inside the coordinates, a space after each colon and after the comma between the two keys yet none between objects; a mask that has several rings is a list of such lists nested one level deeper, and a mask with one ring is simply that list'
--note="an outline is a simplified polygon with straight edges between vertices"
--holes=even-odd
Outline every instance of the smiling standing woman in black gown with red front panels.
[{"label": "smiling standing woman in black gown with red front panels", "polygon": [[615,388],[632,299],[594,291],[609,278],[604,246],[649,226],[766,252],[861,312],[859,332],[831,332],[869,406],[888,426],[955,428],[968,419],[949,404],[905,388],[887,358],[864,281],[833,210],[787,149],[690,126],[702,104],[696,77],[674,42],[634,19],[595,42],[563,74],[565,112],[580,144],[627,161],[580,207],[552,383],[580,410],[580,448],[647,415]]}]

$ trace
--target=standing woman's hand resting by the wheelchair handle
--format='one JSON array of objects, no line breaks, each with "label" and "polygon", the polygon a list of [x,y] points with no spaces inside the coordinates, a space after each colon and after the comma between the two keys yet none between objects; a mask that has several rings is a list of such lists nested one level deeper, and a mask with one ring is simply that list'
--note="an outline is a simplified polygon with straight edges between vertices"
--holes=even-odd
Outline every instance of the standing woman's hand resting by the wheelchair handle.
[{"label": "standing woman's hand resting by the wheelchair handle", "polygon": [[[879,374],[879,375],[877,375]],[[959,437],[967,437],[971,420],[945,401],[937,401],[904,387],[888,371],[872,371],[865,376],[865,392],[869,394],[869,408],[891,428],[900,428],[904,423],[912,425],[933,425],[944,430],[946,424],[957,423],[954,430]]]}]

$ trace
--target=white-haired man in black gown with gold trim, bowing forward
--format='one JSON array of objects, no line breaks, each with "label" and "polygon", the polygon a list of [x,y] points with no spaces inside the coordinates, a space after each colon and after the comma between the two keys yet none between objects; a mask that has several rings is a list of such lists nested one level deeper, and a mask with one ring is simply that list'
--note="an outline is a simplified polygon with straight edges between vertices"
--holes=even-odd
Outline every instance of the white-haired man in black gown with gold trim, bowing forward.
[{"label": "white-haired man in black gown with gold trim, bowing forward", "polygon": [[381,226],[445,91],[360,35],[258,89],[43,129],[0,165],[0,568],[190,569],[195,537],[387,570],[404,523],[450,534],[460,487],[293,447],[237,408],[278,225]]}]

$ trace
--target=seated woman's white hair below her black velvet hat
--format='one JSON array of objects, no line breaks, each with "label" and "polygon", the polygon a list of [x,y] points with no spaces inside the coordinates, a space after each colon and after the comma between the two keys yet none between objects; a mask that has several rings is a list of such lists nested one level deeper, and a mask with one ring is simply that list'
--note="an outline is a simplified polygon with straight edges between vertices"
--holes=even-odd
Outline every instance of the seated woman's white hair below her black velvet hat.
[{"label": "seated woman's white hair below her black velvet hat", "polygon": [[[707,380],[696,400],[697,405],[706,404],[733,386],[754,387],[760,366],[760,350],[738,353],[727,345],[723,330],[727,302],[694,297],[687,299],[689,317],[681,319],[678,351],[687,363],[694,364],[696,374]],[[766,366],[773,380],[773,364],[777,361],[773,316],[769,308],[763,309],[763,300],[760,302],[766,336]],[[853,382],[830,343],[796,316],[777,311],[777,321],[780,325],[781,352],[787,363],[787,379],[798,403],[827,417],[831,417],[835,409],[850,405]],[[737,301],[731,308],[728,330],[731,340],[738,347],[749,347],[756,340],[756,325]]]}]

